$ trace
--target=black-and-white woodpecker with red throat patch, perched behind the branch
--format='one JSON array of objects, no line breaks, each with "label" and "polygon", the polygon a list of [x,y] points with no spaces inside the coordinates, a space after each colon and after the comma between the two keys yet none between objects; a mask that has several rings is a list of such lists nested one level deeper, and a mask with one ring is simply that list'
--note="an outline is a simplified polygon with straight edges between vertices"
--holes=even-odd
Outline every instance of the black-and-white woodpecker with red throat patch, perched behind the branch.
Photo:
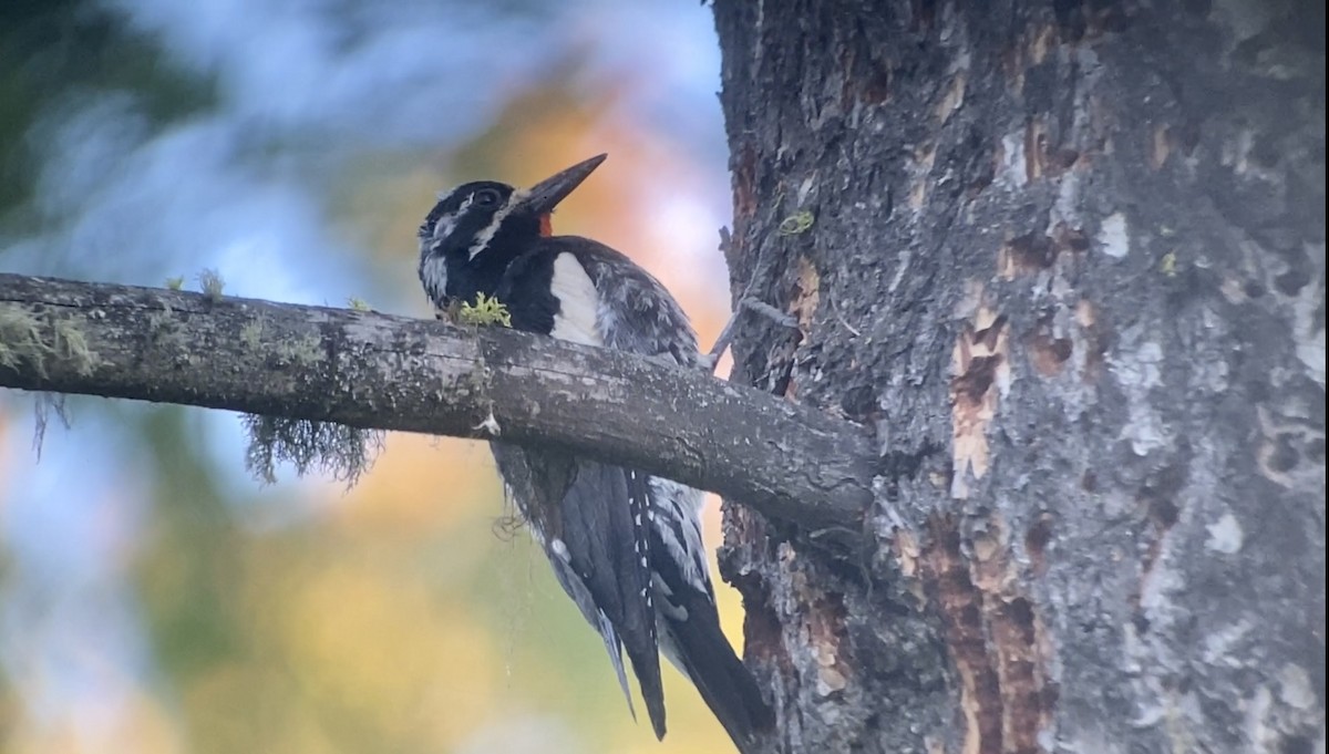
[{"label": "black-and-white woodpecker with red throat patch, perched behind the branch", "polygon": [[[529,190],[478,181],[440,194],[420,226],[420,281],[440,317],[484,295],[508,308],[514,329],[699,368],[692,325],[655,277],[605,244],[553,235],[554,208],[605,157]],[[599,632],[633,717],[623,653],[664,737],[662,652],[751,751],[773,717],[720,632],[702,492],[558,447],[490,447],[560,585]]]}]

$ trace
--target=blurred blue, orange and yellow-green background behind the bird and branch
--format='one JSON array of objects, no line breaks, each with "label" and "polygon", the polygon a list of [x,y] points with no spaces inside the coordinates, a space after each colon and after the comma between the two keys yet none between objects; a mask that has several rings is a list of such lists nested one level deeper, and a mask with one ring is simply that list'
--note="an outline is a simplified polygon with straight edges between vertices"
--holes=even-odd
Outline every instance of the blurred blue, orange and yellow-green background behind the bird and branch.
[{"label": "blurred blue, orange and yellow-green background behind the bird and branch", "polygon": [[[5,0],[0,269],[428,316],[437,190],[610,162],[566,203],[710,342],[728,191],[708,9],[674,0]],[[634,725],[488,450],[391,435],[346,490],[233,414],[0,394],[0,750],[730,751],[671,669]],[[710,542],[719,542],[708,512]],[[739,639],[736,596],[720,587]]]}]

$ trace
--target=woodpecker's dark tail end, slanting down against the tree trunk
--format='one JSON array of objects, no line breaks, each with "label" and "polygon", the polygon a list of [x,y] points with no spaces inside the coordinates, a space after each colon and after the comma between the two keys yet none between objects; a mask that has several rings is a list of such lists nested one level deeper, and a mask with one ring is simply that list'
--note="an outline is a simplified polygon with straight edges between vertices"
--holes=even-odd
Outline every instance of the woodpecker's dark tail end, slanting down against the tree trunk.
[{"label": "woodpecker's dark tail end, slanting down against the tree trunk", "polygon": [[661,648],[692,681],[739,751],[756,751],[763,733],[775,725],[775,714],[720,632],[715,604],[698,597],[688,600],[683,620],[661,616]]}]

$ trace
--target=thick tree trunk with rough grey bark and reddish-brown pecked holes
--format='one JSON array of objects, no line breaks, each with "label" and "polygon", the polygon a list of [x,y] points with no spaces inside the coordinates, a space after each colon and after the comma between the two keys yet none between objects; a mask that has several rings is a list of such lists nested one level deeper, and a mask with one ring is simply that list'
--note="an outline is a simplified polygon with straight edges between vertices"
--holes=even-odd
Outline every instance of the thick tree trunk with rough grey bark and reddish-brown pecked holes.
[{"label": "thick tree trunk with rough grey bark and reddish-brown pecked holes", "polygon": [[1324,16],[715,1],[732,378],[882,451],[727,506],[775,749],[1325,750]]}]

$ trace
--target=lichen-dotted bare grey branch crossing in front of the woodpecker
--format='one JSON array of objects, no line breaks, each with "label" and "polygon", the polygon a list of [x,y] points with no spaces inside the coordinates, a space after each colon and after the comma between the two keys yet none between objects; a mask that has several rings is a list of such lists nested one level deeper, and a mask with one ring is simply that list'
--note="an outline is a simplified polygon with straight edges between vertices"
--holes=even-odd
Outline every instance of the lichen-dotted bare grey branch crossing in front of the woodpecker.
[{"label": "lichen-dotted bare grey branch crossing in front of the woodpecker", "polygon": [[[868,433],[700,372],[502,328],[0,275],[0,386],[557,443],[857,531]],[[488,426],[486,426],[488,423]]]}]

